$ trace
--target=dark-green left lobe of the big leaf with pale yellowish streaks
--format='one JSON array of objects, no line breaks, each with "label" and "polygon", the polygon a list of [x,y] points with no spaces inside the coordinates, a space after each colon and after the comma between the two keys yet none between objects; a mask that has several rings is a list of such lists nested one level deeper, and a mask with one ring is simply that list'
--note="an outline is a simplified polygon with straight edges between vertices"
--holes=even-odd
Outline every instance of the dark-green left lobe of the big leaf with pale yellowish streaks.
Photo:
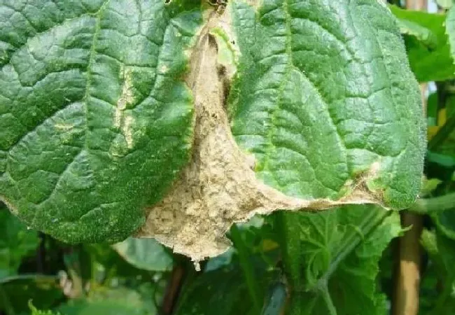
[{"label": "dark-green left lobe of the big leaf with pale yellowish streaks", "polygon": [[188,162],[197,1],[0,4],[0,199],[69,242],[119,241]]}]

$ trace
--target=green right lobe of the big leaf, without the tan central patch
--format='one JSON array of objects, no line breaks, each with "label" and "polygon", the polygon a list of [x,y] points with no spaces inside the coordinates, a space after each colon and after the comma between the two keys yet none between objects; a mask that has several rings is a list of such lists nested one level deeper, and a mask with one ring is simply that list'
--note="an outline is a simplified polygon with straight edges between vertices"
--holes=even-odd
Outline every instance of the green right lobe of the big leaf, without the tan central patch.
[{"label": "green right lobe of the big leaf, without the tan central patch", "polygon": [[[395,19],[379,1],[232,2],[241,55],[232,132],[270,186],[306,199],[366,193],[407,207],[426,125]],[[342,17],[342,18],[340,18]]]}]

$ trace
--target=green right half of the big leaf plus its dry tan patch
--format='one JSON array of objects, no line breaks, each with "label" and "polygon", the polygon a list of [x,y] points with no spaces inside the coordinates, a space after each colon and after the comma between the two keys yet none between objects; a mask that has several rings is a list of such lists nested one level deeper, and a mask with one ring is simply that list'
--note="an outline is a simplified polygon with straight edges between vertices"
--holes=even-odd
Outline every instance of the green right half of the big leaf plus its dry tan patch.
[{"label": "green right half of the big leaf plus its dry tan patch", "polygon": [[[192,159],[138,235],[199,261],[226,251],[225,231],[253,214],[409,207],[426,124],[388,9],[376,0],[267,0],[230,1],[225,12],[206,23],[223,35],[204,29],[190,57]],[[229,51],[237,55],[221,58]]]}]

